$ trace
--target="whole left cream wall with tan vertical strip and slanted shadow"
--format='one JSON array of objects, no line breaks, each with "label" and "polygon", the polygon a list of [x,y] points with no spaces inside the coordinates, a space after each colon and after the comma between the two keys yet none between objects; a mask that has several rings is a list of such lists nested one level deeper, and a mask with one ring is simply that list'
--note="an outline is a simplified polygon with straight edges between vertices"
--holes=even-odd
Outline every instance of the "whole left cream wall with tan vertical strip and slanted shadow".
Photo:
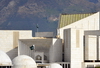
[{"label": "whole left cream wall with tan vertical strip and slanted shadow", "polygon": [[0,50],[6,52],[11,59],[18,55],[18,39],[32,38],[30,30],[0,30]]}]

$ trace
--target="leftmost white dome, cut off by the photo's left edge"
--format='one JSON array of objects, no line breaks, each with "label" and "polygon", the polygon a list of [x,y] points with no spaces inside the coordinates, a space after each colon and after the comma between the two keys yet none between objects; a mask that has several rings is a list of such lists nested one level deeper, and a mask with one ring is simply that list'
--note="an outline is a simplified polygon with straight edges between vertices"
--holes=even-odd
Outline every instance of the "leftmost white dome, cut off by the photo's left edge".
[{"label": "leftmost white dome, cut off by the photo's left edge", "polygon": [[0,51],[0,66],[12,66],[12,61],[9,58],[9,56],[3,52]]}]

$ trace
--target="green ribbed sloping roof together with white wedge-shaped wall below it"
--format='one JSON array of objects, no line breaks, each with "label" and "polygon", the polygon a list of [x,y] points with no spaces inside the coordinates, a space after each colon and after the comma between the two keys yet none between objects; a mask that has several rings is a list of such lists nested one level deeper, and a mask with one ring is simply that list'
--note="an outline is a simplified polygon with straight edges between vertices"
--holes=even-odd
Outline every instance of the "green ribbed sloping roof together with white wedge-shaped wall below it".
[{"label": "green ribbed sloping roof together with white wedge-shaped wall below it", "polygon": [[100,29],[100,12],[87,14],[62,14],[60,15],[58,34],[64,37],[64,29],[74,28],[83,30]]}]

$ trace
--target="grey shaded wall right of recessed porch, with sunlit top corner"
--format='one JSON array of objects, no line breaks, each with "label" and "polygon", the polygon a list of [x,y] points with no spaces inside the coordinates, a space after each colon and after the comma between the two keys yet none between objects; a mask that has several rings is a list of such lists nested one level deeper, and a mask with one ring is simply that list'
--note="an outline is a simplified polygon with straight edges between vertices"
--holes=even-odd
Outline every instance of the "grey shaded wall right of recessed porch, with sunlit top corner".
[{"label": "grey shaded wall right of recessed porch, with sunlit top corner", "polygon": [[62,40],[53,38],[52,46],[49,51],[49,62],[61,62],[62,61]]}]

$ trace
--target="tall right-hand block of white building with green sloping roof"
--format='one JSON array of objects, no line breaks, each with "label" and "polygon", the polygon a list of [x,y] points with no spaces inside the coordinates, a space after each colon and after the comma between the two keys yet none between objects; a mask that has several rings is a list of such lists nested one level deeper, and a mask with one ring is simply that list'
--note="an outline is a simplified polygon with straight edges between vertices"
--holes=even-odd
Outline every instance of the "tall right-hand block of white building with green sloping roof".
[{"label": "tall right-hand block of white building with green sloping roof", "polygon": [[58,35],[64,41],[64,61],[70,68],[94,68],[100,65],[100,12],[61,14]]}]

